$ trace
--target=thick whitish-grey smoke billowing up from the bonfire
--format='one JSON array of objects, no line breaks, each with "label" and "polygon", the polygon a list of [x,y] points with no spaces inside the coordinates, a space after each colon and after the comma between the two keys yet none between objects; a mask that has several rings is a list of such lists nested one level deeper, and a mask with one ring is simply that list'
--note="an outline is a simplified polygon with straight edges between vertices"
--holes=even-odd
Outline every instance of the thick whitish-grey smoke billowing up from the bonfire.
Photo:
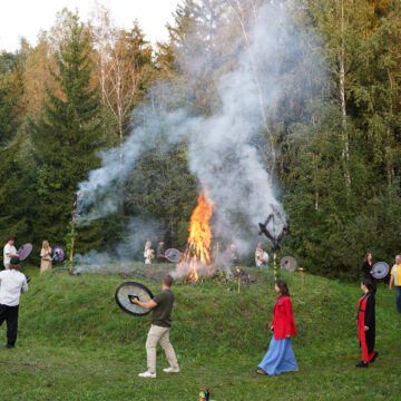
[{"label": "thick whitish-grey smoke billowing up from the bonfire", "polygon": [[[283,63],[297,51],[297,38],[293,28],[287,29],[285,12],[268,3],[256,10],[247,40],[241,35],[235,42],[236,66],[217,80],[219,107],[212,116],[194,117],[185,107],[174,108],[175,90],[160,90],[163,84],[153,88],[153,100],[158,99],[156,110],[155,101],[144,104],[137,111],[141,126],[125,144],[104,151],[101,167],[79,185],[79,223],[117,211],[118,187],[139,156],[160,137],[167,148],[186,140],[190,172],[208,187],[216,204],[214,229],[236,243],[239,251],[254,247],[250,233],[257,233],[257,224],[273,213],[273,207],[285,216],[255,144],[266,136],[268,116],[282,95]],[[275,221],[276,234],[284,224],[284,218]]]}]

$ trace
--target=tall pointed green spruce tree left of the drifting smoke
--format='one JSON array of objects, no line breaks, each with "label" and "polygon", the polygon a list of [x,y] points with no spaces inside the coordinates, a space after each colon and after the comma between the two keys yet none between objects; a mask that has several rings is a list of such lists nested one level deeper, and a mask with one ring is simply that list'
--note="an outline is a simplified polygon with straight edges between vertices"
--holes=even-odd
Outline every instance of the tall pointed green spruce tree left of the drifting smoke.
[{"label": "tall pointed green spruce tree left of the drifting smoke", "polygon": [[[65,11],[66,12],[66,11]],[[105,140],[100,97],[91,84],[94,65],[89,36],[78,16],[68,13],[67,31],[56,53],[51,76],[59,92],[47,87],[43,116],[31,121],[38,158],[38,225],[36,236],[62,243],[77,184],[98,166],[96,151]],[[102,241],[99,223],[80,231],[77,251]]]}]

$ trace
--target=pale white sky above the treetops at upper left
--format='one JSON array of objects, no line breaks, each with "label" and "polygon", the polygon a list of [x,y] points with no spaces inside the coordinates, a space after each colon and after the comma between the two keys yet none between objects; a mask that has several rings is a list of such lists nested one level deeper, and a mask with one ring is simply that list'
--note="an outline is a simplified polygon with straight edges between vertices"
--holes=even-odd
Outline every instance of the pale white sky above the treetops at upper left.
[{"label": "pale white sky above the treetops at upper left", "polygon": [[0,0],[0,51],[16,51],[20,38],[36,45],[40,30],[48,30],[56,21],[56,13],[65,7],[78,10],[86,21],[96,4],[111,11],[117,26],[130,28],[139,21],[146,38],[151,42],[167,39],[166,23],[173,22],[172,13],[179,0]]}]

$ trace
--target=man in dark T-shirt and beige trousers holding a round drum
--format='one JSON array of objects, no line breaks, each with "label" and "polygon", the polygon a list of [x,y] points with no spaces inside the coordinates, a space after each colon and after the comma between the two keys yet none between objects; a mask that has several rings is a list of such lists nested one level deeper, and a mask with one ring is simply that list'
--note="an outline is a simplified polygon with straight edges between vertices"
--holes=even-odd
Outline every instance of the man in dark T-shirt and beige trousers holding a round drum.
[{"label": "man in dark T-shirt and beige trousers holding a round drum", "polygon": [[178,373],[179,366],[174,348],[169,341],[169,332],[172,329],[172,310],[174,304],[174,293],[172,285],[174,278],[167,274],[163,278],[163,291],[155,295],[149,302],[140,302],[133,299],[133,303],[145,309],[151,310],[151,326],[146,340],[147,371],[139,373],[140,378],[156,378],[156,348],[160,343],[164,349],[169,368],[163,371],[166,373]]}]

